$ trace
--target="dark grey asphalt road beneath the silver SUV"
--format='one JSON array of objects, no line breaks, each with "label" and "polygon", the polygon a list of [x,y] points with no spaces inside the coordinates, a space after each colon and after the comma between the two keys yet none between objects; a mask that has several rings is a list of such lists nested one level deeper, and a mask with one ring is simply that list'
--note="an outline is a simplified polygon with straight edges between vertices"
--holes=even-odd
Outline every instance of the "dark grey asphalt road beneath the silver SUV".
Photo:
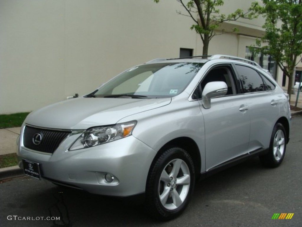
[{"label": "dark grey asphalt road beneath the silver SUV", "polygon": [[[197,183],[184,214],[170,222],[150,219],[142,206],[20,177],[0,183],[0,226],[302,226],[301,126],[294,117],[279,168],[255,158],[217,173]],[[294,215],[272,220],[274,213]],[[60,221],[41,220],[48,216]],[[40,220],[18,220],[27,217]]]}]

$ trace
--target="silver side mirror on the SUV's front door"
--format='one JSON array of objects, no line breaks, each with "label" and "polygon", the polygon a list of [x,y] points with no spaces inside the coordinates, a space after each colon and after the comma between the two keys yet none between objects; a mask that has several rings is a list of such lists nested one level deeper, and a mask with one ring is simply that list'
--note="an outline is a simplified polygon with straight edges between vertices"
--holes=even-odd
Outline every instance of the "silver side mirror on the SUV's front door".
[{"label": "silver side mirror on the SUV's front door", "polygon": [[223,96],[227,93],[227,85],[223,81],[209,82],[202,91],[202,106],[205,109],[211,108],[211,98]]}]

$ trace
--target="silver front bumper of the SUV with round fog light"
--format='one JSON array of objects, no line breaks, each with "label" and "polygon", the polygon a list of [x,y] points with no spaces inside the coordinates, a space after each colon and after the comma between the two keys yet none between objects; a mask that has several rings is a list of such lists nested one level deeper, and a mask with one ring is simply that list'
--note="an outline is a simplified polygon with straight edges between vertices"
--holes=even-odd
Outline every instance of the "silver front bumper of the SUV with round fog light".
[{"label": "silver front bumper of the SUV with round fog light", "polygon": [[[53,154],[18,146],[19,166],[22,159],[40,164],[42,178],[107,196],[132,196],[145,192],[146,179],[156,152],[130,136],[99,146],[68,151],[75,137],[67,137]],[[115,176],[108,183],[105,174]]]}]

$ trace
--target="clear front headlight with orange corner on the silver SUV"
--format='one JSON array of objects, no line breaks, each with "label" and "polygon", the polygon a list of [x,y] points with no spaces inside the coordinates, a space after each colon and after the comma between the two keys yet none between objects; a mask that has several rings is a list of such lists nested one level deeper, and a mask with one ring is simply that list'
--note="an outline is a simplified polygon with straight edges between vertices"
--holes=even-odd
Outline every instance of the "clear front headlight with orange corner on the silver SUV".
[{"label": "clear front headlight with orange corner on the silver SUV", "polygon": [[97,146],[103,143],[109,143],[128,137],[137,121],[120,123],[112,126],[100,126],[87,129],[82,135],[71,145],[69,150],[78,150],[87,147]]}]

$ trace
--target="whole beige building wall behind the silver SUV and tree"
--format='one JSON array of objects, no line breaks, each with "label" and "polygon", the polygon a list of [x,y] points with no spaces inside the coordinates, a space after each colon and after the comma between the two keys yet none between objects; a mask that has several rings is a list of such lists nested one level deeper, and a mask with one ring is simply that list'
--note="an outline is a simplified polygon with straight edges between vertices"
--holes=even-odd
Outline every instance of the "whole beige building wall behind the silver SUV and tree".
[{"label": "whole beige building wall behind the silver SUV and tree", "polygon": [[[252,0],[225,0],[230,13]],[[32,111],[87,94],[121,71],[180,48],[202,53],[191,18],[176,0],[0,0],[0,114]],[[263,19],[225,24],[209,54],[244,57]]]}]

